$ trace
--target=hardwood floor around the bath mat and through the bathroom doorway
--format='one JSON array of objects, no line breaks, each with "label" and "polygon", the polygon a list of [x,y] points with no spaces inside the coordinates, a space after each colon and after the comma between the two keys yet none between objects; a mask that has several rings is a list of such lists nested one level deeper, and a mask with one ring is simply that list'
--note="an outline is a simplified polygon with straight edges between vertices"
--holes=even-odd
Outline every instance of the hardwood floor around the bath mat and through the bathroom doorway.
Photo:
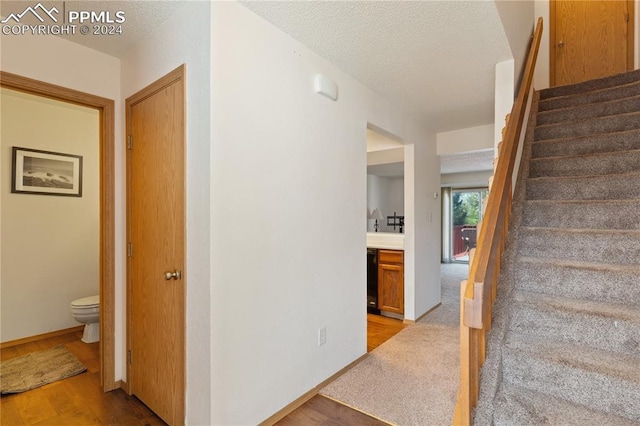
[{"label": "hardwood floor around the bath mat and through the bathroom doorway", "polygon": [[70,333],[2,349],[6,361],[64,344],[87,371],[27,392],[3,395],[0,424],[17,425],[164,425],[140,400],[122,389],[100,389],[98,343],[84,343],[82,333]]}]

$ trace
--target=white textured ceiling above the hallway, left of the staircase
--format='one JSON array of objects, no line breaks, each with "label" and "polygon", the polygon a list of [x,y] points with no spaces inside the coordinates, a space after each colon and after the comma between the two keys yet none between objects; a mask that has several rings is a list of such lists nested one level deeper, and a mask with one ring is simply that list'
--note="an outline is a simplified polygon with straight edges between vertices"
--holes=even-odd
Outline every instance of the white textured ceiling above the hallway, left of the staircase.
[{"label": "white textured ceiling above the hallway, left of the staircase", "polygon": [[493,1],[245,1],[365,86],[446,131],[493,123],[512,57]]}]

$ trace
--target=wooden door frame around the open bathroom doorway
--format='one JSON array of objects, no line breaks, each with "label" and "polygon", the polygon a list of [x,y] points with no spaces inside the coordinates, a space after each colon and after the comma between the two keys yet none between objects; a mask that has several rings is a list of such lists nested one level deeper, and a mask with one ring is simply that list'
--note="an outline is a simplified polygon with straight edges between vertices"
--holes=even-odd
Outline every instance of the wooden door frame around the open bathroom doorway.
[{"label": "wooden door frame around the open bathroom doorway", "polygon": [[117,389],[115,380],[115,103],[78,90],[0,71],[0,86],[100,113],[100,385]]}]

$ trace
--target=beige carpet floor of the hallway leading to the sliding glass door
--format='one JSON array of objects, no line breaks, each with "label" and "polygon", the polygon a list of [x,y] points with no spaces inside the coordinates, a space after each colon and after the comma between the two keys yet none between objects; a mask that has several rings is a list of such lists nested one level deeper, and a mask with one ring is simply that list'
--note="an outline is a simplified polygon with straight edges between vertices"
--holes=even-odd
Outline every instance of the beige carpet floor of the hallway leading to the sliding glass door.
[{"label": "beige carpet floor of the hallway leading to the sliding glass door", "polygon": [[398,426],[450,425],[459,383],[464,264],[443,264],[442,305],[380,345],[320,394]]}]

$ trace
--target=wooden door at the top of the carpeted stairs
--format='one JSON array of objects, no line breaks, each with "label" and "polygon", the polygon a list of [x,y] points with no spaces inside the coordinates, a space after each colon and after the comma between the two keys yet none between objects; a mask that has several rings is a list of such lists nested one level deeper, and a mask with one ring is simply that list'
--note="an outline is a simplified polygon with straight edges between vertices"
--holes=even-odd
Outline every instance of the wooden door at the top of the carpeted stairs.
[{"label": "wooden door at the top of the carpeted stairs", "polygon": [[633,3],[551,1],[551,86],[633,69]]}]

